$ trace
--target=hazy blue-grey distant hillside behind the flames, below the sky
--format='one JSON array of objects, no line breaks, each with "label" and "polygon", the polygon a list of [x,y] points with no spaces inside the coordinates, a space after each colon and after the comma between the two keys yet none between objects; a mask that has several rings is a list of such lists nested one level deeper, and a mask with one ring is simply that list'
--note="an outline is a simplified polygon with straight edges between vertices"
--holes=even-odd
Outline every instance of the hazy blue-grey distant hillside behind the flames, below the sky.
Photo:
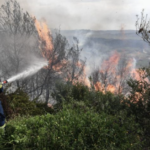
[{"label": "hazy blue-grey distant hillside behind the flames, below the sky", "polygon": [[83,48],[82,57],[87,58],[87,63],[99,62],[104,55],[110,55],[113,51],[135,58],[137,67],[149,63],[149,44],[136,35],[135,30],[63,30],[61,34],[66,36],[71,44],[74,36],[79,39]]}]

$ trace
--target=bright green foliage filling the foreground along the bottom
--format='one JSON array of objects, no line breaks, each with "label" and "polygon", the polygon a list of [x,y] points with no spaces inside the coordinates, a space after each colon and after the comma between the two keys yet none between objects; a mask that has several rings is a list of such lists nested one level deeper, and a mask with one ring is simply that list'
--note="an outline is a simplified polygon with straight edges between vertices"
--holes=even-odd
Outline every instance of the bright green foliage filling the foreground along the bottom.
[{"label": "bright green foliage filling the foreground along the bottom", "polygon": [[[79,102],[79,106],[83,106]],[[16,117],[0,136],[8,149],[141,149],[138,125],[133,117],[98,114],[64,105],[56,115]],[[130,126],[129,126],[130,125]]]}]

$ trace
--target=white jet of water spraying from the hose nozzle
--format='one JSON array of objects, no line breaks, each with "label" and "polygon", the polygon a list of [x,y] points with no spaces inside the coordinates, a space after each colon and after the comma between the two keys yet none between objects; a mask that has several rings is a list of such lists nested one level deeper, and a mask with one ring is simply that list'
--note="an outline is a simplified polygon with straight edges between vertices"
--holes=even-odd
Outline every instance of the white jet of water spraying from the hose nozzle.
[{"label": "white jet of water spraying from the hose nozzle", "polygon": [[35,74],[36,72],[38,72],[41,68],[43,68],[44,66],[46,66],[48,64],[48,62],[44,59],[38,59],[37,61],[35,61],[30,67],[28,67],[26,70],[24,70],[23,72],[10,77],[7,81],[8,82],[13,82],[19,79],[24,79],[28,76],[31,76],[33,74]]}]

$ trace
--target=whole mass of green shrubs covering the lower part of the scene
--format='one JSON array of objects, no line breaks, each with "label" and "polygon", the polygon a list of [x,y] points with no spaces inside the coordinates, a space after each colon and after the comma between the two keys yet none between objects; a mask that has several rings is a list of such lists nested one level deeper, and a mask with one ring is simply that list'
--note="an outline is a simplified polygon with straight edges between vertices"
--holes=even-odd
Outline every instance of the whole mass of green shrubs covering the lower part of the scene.
[{"label": "whole mass of green shrubs covering the lower part of the scene", "polygon": [[[79,83],[58,84],[52,94],[58,102],[53,114],[44,103],[31,102],[23,91],[9,94],[15,117],[0,134],[0,148],[149,149],[149,88],[140,91],[141,82],[133,80],[129,85],[131,95],[125,98]],[[138,101],[137,92],[141,95]]]}]

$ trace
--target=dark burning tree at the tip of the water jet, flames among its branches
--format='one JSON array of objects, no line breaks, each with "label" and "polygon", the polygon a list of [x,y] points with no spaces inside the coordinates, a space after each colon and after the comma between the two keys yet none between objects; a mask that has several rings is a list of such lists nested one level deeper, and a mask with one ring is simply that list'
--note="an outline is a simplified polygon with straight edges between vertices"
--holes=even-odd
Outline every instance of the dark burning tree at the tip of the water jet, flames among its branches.
[{"label": "dark burning tree at the tip of the water jet, flames among its branches", "polygon": [[[79,59],[80,49],[77,38],[74,38],[76,45],[69,48],[67,39],[62,36],[60,32],[55,32],[55,35],[51,36],[48,31],[46,35],[48,36],[47,38],[41,35],[39,40],[40,49],[44,57],[49,62],[48,67],[45,69],[45,84],[43,88],[45,100],[46,103],[48,103],[51,91],[54,90],[56,81],[68,81],[71,84],[75,80],[77,81],[78,77],[83,73],[84,63]],[[52,46],[48,46],[50,41],[47,41],[47,39],[52,40]],[[81,65],[79,66],[78,63]]]}]

